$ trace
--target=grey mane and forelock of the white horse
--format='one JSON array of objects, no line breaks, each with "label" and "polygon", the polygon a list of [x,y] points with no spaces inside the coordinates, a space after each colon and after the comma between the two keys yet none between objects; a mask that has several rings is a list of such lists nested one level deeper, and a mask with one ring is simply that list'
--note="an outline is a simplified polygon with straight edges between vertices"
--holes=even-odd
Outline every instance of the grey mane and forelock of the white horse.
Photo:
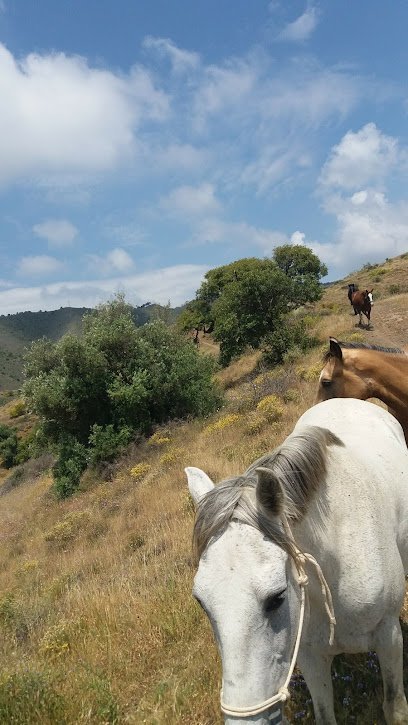
[{"label": "grey mane and forelock of the white horse", "polygon": [[299,521],[326,475],[327,448],[343,445],[326,428],[307,426],[290,435],[272,453],[258,458],[241,476],[222,481],[199,501],[193,544],[200,558],[213,537],[220,536],[230,521],[258,529],[292,554],[292,542],[279,518],[268,512],[257,498],[257,468],[269,468],[284,492],[284,512]]}]

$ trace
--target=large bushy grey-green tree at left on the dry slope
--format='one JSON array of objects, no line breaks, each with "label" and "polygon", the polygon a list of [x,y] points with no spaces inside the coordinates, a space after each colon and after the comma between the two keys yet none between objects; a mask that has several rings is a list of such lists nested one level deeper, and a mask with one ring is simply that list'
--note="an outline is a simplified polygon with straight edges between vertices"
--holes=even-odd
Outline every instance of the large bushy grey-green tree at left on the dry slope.
[{"label": "large bushy grey-green tree at left on the dry slope", "polygon": [[81,338],[34,343],[25,369],[39,436],[59,455],[61,496],[77,487],[88,461],[112,460],[155,424],[205,415],[220,402],[214,360],[162,321],[137,328],[121,296],[85,316]]}]

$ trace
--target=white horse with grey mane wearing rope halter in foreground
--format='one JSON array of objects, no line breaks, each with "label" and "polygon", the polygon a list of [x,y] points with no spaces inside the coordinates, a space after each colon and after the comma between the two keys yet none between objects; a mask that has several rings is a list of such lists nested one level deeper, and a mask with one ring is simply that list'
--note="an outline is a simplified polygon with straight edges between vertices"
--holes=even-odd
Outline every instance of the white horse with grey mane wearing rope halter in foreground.
[{"label": "white horse with grey mane wearing rope halter in foreground", "polygon": [[408,723],[408,451],[395,418],[328,400],[242,476],[214,487],[200,469],[186,473],[198,507],[194,596],[221,653],[225,722],[280,723],[297,659],[316,722],[335,723],[333,656],[375,650],[385,719]]}]

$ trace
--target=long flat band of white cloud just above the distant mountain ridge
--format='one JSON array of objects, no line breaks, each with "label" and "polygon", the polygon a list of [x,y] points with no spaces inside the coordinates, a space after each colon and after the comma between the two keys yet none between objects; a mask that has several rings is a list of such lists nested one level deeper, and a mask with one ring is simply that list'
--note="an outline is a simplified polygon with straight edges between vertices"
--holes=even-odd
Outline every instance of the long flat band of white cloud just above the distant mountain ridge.
[{"label": "long flat band of white cloud just above the distant mountain ridge", "polygon": [[86,282],[55,282],[38,287],[0,290],[2,314],[21,310],[55,310],[59,307],[94,307],[116,292],[125,292],[132,304],[147,300],[172,306],[193,299],[208,267],[183,264],[144,274]]}]

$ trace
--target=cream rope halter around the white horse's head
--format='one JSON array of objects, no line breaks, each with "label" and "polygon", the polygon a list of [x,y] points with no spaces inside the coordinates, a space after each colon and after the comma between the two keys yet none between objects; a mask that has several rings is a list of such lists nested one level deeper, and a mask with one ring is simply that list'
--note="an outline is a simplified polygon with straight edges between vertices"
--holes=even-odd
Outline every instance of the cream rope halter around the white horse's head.
[{"label": "cream rope halter around the white horse's head", "polygon": [[286,702],[289,697],[289,683],[290,679],[293,675],[293,670],[295,669],[296,660],[299,652],[300,647],[300,640],[302,637],[302,629],[303,629],[303,621],[304,621],[304,615],[305,615],[305,586],[308,584],[308,577],[304,569],[304,565],[306,561],[308,561],[310,564],[313,564],[316,570],[316,574],[318,576],[318,579],[320,581],[320,586],[322,590],[323,595],[323,601],[324,601],[324,607],[327,613],[327,617],[329,619],[329,628],[330,628],[330,634],[329,634],[329,645],[333,645],[334,641],[334,627],[336,625],[336,617],[334,616],[334,608],[333,608],[333,599],[330,591],[330,587],[325,579],[325,576],[321,570],[321,567],[319,563],[316,561],[314,556],[311,554],[305,554],[302,553],[297,546],[292,530],[289,526],[289,522],[285,515],[282,517],[282,523],[283,528],[285,530],[285,533],[287,534],[289,541],[293,547],[293,553],[292,553],[292,559],[293,563],[296,568],[297,578],[298,578],[298,584],[300,586],[300,613],[299,613],[299,623],[298,623],[298,631],[296,635],[295,640],[295,646],[293,648],[293,654],[292,659],[289,666],[289,672],[286,677],[286,680],[282,687],[279,688],[276,695],[273,695],[272,697],[269,697],[267,700],[264,700],[259,705],[254,705],[253,707],[232,707],[228,706],[223,702],[223,695],[221,690],[221,711],[224,713],[224,715],[230,715],[231,717],[252,717],[254,715],[259,715],[262,712],[265,712],[265,710],[269,710],[270,707],[273,707],[273,705],[277,705],[278,703]]}]

